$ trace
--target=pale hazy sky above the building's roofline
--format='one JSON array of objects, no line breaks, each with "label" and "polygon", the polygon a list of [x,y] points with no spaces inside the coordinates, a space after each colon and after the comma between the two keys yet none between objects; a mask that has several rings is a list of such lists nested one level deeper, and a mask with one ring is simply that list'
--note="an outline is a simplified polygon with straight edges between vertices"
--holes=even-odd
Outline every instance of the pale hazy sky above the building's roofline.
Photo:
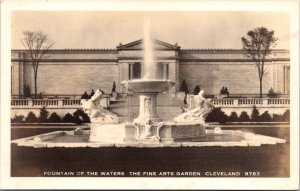
[{"label": "pale hazy sky above the building's roofline", "polygon": [[240,49],[242,36],[256,27],[275,31],[276,48],[289,49],[290,17],[287,12],[112,12],[14,11],[11,16],[12,49],[23,49],[23,31],[43,31],[52,49],[116,48],[142,39],[144,19],[151,35],[182,49]]}]

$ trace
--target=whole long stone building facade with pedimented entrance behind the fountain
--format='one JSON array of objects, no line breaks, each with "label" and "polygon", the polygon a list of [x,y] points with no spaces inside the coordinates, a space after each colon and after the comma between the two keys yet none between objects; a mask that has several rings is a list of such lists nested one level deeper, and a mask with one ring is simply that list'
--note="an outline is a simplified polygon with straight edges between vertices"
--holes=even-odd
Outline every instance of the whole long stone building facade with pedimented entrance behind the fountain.
[{"label": "whole long stone building facade with pedimented entrance behind the fountain", "polygon": [[[167,74],[176,82],[170,92],[179,91],[185,80],[190,92],[200,85],[206,94],[215,96],[223,86],[227,86],[231,95],[259,93],[257,69],[242,50],[187,50],[159,40],[155,41],[155,48],[158,76]],[[142,40],[116,49],[50,50],[39,66],[38,92],[49,97],[77,98],[84,91],[97,88],[110,93],[114,81],[116,90],[125,92],[120,82],[143,76],[142,55]],[[24,85],[29,85],[33,93],[33,69],[25,51],[12,50],[11,61],[12,95],[23,95]],[[289,51],[274,50],[266,65],[268,75],[264,77],[263,93],[272,87],[277,93],[289,94]]]}]

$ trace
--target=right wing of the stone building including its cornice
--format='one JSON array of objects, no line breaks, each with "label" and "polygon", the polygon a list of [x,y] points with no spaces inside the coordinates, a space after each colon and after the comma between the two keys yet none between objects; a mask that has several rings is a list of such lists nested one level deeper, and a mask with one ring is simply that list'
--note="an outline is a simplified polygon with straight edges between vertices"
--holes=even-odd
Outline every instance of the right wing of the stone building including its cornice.
[{"label": "right wing of the stone building including its cornice", "polygon": [[[289,65],[289,51],[275,50],[267,59],[268,74],[263,78],[263,94],[272,87],[284,92],[284,66]],[[181,50],[179,81],[186,81],[189,91],[200,85],[207,94],[218,95],[223,86],[230,94],[259,94],[258,71],[241,50]]]}]

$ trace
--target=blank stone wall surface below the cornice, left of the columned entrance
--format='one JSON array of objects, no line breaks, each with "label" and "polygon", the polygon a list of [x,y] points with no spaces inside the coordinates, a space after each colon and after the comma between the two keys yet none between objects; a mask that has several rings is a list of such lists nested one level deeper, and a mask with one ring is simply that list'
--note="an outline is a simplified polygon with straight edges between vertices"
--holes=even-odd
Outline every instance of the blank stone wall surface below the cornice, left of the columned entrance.
[{"label": "blank stone wall surface below the cornice, left of the columned entrance", "polygon": [[[101,88],[110,93],[113,82],[118,82],[118,65],[110,62],[43,62],[38,70],[38,93],[43,95],[81,95],[92,89]],[[25,64],[25,84],[34,93],[32,65]]]}]

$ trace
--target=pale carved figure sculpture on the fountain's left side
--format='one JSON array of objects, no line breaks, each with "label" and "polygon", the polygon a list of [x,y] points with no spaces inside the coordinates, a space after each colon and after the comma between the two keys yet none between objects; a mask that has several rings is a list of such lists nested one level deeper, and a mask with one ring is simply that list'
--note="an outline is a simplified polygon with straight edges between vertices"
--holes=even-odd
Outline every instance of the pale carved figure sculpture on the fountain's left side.
[{"label": "pale carved figure sculpture on the fountain's left side", "polygon": [[103,92],[98,89],[89,100],[81,100],[84,112],[89,116],[92,123],[113,122],[118,123],[119,118],[110,111],[104,109],[100,101],[103,98]]}]

